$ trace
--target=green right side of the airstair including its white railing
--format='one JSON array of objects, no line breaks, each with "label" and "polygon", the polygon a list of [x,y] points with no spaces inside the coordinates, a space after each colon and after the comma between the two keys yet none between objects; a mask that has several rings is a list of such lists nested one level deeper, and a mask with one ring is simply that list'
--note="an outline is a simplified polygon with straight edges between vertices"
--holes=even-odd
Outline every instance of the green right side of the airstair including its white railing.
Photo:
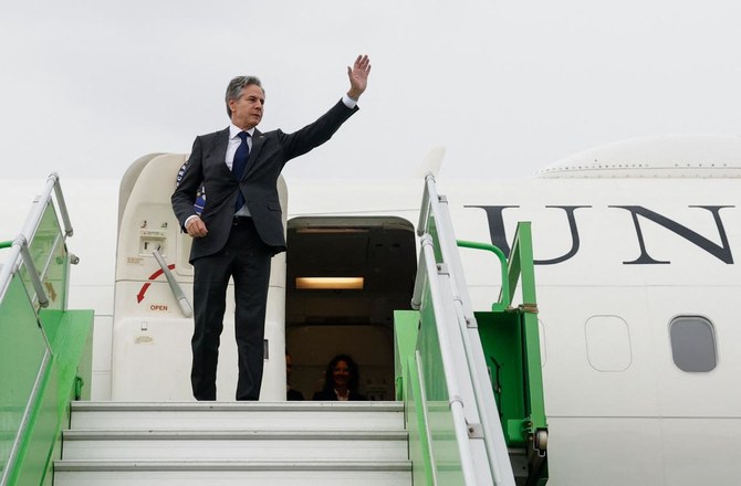
[{"label": "green right side of the airstair including its white railing", "polygon": [[[509,260],[457,241],[448,203],[427,176],[413,308],[395,313],[396,393],[405,402],[414,484],[545,485],[547,425],[530,223]],[[471,309],[459,247],[502,265],[491,311]],[[523,303],[511,296],[520,283]]]}]

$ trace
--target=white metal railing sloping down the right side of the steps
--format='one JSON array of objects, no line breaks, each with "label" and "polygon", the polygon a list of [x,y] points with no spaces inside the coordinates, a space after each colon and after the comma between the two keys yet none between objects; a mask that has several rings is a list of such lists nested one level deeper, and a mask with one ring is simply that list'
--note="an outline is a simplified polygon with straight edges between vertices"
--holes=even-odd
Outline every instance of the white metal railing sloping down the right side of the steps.
[{"label": "white metal railing sloping down the right side of the steps", "polygon": [[[427,352],[439,352],[445,390],[438,390],[436,398],[445,395],[448,400],[463,482],[466,485],[513,485],[512,466],[486,372],[447,200],[437,193],[431,175],[426,178],[417,231],[421,255],[411,305],[420,310],[420,334],[426,331],[426,320],[434,321],[435,328],[427,331],[437,334],[437,349],[431,350],[428,346]],[[431,311],[425,307],[431,308]],[[426,337],[419,339],[428,345],[430,342]],[[436,358],[417,353],[418,361]],[[417,362],[417,366],[421,367],[419,372],[424,374],[424,369],[430,364]],[[424,377],[420,376],[420,380],[424,385]],[[428,400],[435,401],[429,395],[424,397],[425,402]],[[425,409],[422,413],[431,414],[427,410],[429,403],[417,406]],[[436,432],[429,429],[425,435],[430,441],[428,447],[434,448]]]}]

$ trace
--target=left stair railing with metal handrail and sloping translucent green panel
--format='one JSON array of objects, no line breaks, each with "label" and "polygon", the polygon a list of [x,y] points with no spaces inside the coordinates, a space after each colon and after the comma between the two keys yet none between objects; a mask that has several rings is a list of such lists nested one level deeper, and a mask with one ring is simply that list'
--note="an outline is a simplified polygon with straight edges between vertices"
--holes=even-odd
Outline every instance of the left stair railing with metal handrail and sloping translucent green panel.
[{"label": "left stair railing with metal handrail and sloping translucent green panel", "polygon": [[[55,194],[56,214],[52,194]],[[60,218],[62,224],[60,224]],[[66,205],[52,173],[21,230],[0,249],[9,252],[0,267],[0,485],[14,484],[34,406],[53,360],[54,321],[66,307],[72,234]],[[48,316],[40,317],[44,309]],[[10,371],[12,370],[12,372]]]}]

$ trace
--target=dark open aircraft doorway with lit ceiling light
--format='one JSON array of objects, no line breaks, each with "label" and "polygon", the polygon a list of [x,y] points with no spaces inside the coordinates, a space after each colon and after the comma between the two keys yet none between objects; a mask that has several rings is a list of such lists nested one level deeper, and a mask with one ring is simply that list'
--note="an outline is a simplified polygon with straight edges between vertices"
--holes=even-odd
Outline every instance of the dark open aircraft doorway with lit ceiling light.
[{"label": "dark open aircraft doorway with lit ceiling light", "polygon": [[327,362],[349,355],[359,393],[394,400],[394,310],[409,309],[414,225],[394,216],[301,216],[288,222],[285,346],[292,388],[311,400]]}]

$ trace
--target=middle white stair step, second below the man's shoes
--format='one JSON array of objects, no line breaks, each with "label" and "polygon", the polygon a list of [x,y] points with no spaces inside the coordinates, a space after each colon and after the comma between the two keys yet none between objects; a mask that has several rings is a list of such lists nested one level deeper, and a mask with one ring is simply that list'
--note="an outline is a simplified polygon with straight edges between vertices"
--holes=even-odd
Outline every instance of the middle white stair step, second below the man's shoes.
[{"label": "middle white stair step, second below the man's shoes", "polygon": [[406,431],[97,431],[63,433],[66,459],[406,459]]}]

